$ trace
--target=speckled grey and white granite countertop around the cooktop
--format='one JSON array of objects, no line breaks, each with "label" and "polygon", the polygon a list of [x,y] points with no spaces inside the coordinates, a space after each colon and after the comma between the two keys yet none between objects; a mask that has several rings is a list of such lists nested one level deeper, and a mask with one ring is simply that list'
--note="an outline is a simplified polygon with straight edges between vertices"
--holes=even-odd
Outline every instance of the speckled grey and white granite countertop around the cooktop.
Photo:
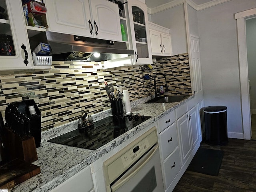
[{"label": "speckled grey and white granite countertop around the cooktop", "polygon": [[128,140],[136,133],[140,132],[150,124],[156,122],[162,116],[173,111],[178,106],[184,104],[194,95],[186,98],[182,102],[175,103],[152,103],[144,104],[142,102],[135,103],[132,106],[132,112],[138,112],[144,116],[152,116],[140,125],[132,128],[128,132],[122,134],[118,138],[110,141],[97,150],[87,150],[54,144],[47,142],[48,139],[54,138],[65,132],[77,128],[77,122],[65,125],[63,128],[54,128],[51,131],[42,132],[41,146],[37,148],[38,160],[32,164],[38,165],[41,168],[41,173],[18,184],[10,190],[10,192],[48,192],[55,188],[74,174],[80,172],[92,162],[108,153],[113,148]]}]

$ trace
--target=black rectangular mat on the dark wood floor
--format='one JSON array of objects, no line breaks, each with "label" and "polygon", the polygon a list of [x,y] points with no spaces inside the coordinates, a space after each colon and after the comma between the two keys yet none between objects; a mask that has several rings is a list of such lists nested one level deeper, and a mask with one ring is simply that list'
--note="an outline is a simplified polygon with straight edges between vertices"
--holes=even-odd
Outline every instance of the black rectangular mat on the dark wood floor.
[{"label": "black rectangular mat on the dark wood floor", "polygon": [[190,162],[189,171],[218,176],[224,151],[199,148]]}]

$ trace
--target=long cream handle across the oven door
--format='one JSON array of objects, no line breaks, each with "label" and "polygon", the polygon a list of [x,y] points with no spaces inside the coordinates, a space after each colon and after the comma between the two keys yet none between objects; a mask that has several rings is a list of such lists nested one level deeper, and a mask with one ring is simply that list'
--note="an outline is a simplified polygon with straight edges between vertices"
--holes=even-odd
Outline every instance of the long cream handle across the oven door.
[{"label": "long cream handle across the oven door", "polygon": [[[158,144],[154,146],[147,154],[146,154],[146,160],[144,160],[141,164],[136,164],[135,170],[133,170],[131,173],[126,176],[124,174],[115,184],[112,185],[111,189],[112,192],[116,191],[118,188],[120,188],[122,185],[124,185],[128,180],[130,180],[134,175],[136,175],[151,159],[152,157],[156,154],[158,151]],[[140,161],[139,161],[140,162]],[[124,177],[124,178],[123,178]]]}]

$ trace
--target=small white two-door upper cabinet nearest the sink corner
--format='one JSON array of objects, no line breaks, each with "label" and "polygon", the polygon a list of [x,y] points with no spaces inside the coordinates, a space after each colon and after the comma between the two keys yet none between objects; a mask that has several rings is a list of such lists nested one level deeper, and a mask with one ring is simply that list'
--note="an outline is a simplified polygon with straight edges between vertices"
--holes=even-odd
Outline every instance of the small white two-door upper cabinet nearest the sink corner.
[{"label": "small white two-door upper cabinet nearest the sink corner", "polygon": [[172,56],[171,35],[167,28],[149,22],[152,55]]}]

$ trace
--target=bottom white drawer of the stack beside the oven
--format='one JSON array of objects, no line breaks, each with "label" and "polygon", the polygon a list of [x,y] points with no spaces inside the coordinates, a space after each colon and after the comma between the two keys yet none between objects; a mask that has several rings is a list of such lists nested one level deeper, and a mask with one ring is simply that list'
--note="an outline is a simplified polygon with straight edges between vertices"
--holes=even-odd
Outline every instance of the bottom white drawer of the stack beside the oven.
[{"label": "bottom white drawer of the stack beside the oven", "polygon": [[179,148],[164,161],[164,189],[166,190],[181,168]]}]

